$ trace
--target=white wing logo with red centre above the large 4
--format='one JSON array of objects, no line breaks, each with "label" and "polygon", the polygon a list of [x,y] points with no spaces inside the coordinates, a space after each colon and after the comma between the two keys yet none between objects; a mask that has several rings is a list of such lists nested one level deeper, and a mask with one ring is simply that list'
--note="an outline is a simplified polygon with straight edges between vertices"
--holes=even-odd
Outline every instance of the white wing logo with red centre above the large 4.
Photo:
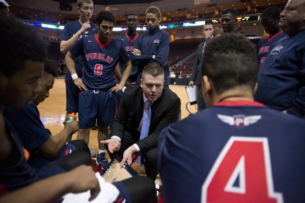
[{"label": "white wing logo with red centre above the large 4", "polygon": [[238,128],[256,123],[258,120],[262,118],[262,116],[244,116],[244,115],[225,116],[221,114],[217,114],[217,117],[221,121]]}]

